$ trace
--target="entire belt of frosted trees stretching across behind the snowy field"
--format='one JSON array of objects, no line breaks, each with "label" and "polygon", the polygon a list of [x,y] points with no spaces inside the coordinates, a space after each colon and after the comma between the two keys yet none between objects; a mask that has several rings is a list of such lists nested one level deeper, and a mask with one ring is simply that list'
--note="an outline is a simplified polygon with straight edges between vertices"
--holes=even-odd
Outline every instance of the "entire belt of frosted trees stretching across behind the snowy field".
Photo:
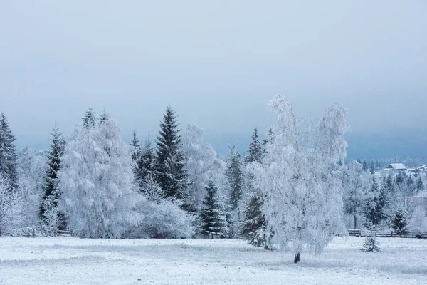
[{"label": "entire belt of frosted trees stretching across behind the snowy field", "polygon": [[46,152],[17,152],[2,113],[0,234],[41,226],[89,238],[238,237],[298,262],[346,225],[421,229],[415,198],[425,177],[398,172],[379,185],[373,161],[344,163],[342,105],[320,120],[297,119],[281,95],[268,105],[275,119],[265,139],[255,128],[246,154],[230,147],[226,157],[199,126],[180,130],[170,107],[154,140],[134,132],[129,143],[110,115],[89,109],[66,140],[55,125]]}]

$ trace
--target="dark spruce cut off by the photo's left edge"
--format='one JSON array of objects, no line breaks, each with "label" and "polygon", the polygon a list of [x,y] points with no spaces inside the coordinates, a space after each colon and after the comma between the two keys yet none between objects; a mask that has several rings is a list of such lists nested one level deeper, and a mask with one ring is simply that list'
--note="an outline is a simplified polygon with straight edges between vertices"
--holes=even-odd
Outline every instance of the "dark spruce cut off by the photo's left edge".
[{"label": "dark spruce cut off by the photo's left edge", "polygon": [[4,113],[0,115],[0,174],[8,180],[9,189],[15,192],[18,188],[18,174],[16,172],[15,137],[9,128]]}]

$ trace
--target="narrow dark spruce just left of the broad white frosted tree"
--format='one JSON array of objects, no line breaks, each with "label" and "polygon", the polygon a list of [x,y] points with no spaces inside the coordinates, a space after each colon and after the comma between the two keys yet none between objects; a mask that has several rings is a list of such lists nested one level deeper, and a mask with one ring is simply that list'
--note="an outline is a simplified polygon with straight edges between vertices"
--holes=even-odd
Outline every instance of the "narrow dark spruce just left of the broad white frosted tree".
[{"label": "narrow dark spruce just left of the broad white frosted tree", "polygon": [[[55,124],[53,133],[51,133],[51,150],[47,153],[48,167],[44,175],[44,194],[42,197],[42,203],[40,207],[40,219],[46,223],[45,212],[46,208],[58,207],[58,199],[60,196],[60,189],[58,186],[58,171],[62,167],[62,156],[65,147],[65,140]],[[63,223],[63,214],[60,214],[60,226],[65,226]]]}]

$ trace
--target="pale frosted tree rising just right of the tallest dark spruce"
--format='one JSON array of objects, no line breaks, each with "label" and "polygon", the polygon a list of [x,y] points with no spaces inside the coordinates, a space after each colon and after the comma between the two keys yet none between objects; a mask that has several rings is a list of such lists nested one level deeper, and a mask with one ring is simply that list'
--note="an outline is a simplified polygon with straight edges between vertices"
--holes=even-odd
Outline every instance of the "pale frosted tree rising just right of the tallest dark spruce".
[{"label": "pale frosted tree rising just right of the tallest dark spruce", "polygon": [[[221,180],[226,169],[226,163],[218,158],[211,145],[203,142],[204,130],[198,125],[187,125],[182,135],[182,150],[186,170],[191,185],[189,186],[191,196],[194,197],[196,209],[199,211],[203,202],[209,180],[214,175]],[[219,183],[218,183],[219,184]],[[221,191],[221,185],[218,185]]]}]

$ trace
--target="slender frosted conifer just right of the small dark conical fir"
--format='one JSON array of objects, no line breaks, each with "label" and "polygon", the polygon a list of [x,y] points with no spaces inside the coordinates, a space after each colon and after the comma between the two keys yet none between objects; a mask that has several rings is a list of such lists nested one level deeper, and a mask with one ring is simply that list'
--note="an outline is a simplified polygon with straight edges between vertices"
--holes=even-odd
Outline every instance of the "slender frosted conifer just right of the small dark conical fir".
[{"label": "slender frosted conifer just right of the small dark conical fir", "polygon": [[241,222],[241,199],[243,196],[243,187],[245,187],[245,178],[243,171],[243,162],[240,153],[235,147],[230,147],[228,152],[226,177],[230,190],[231,209],[236,211],[237,222]]}]

